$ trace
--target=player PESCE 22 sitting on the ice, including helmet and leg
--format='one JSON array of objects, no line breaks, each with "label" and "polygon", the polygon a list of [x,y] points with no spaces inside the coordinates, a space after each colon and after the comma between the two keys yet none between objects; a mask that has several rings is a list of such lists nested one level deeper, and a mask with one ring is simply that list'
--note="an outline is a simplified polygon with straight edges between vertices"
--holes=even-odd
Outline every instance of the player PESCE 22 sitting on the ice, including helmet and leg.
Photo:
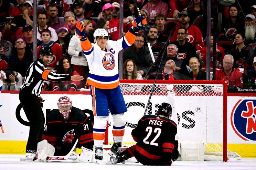
[{"label": "player PESCE 22 sitting on the ice, including helmet and leg", "polygon": [[177,125],[170,120],[172,107],[162,103],[155,115],[143,116],[131,135],[137,142],[117,157],[111,157],[110,163],[116,164],[135,156],[143,165],[168,166],[179,156],[178,141],[175,141]]}]

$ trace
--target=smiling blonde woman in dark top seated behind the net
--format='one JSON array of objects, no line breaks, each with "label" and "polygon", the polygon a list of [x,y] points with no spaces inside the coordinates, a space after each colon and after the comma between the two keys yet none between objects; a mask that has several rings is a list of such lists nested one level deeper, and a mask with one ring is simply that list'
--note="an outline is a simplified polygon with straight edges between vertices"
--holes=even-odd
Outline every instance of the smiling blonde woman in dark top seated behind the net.
[{"label": "smiling blonde woman in dark top seated behind the net", "polygon": [[193,78],[193,80],[206,80],[206,73],[201,71],[199,66],[200,62],[198,61],[198,58],[191,57],[189,60],[189,67],[191,69],[189,76]]}]

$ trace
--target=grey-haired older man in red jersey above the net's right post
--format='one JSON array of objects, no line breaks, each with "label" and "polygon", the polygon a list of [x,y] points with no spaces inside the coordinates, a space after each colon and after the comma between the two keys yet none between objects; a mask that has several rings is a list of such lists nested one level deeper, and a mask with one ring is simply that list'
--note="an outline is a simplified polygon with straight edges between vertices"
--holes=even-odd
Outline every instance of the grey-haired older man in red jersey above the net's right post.
[{"label": "grey-haired older man in red jersey above the net's right post", "polygon": [[223,59],[223,69],[216,71],[216,80],[224,80],[228,90],[243,88],[243,75],[239,69],[233,69],[234,58],[227,54]]}]

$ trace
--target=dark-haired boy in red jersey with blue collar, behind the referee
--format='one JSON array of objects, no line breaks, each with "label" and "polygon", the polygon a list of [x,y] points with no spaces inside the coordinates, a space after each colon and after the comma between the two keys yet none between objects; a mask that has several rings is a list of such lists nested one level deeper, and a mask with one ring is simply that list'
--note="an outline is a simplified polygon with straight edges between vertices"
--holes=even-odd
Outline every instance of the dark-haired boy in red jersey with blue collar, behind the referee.
[{"label": "dark-haired boy in red jersey with blue collar, behind the referee", "polygon": [[42,46],[50,47],[53,51],[53,59],[50,63],[47,64],[46,68],[49,70],[55,70],[58,65],[59,60],[63,57],[62,56],[62,48],[61,46],[51,41],[52,35],[49,29],[43,29],[41,32],[41,39],[43,40],[42,45],[38,46],[37,48],[37,57],[39,58],[39,50]]}]

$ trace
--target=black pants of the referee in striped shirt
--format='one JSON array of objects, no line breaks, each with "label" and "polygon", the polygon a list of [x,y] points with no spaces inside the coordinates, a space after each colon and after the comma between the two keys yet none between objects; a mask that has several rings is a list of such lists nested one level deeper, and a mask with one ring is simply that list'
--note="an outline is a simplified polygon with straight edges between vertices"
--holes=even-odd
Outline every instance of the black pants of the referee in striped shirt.
[{"label": "black pants of the referee in striped shirt", "polygon": [[44,113],[37,96],[20,90],[19,99],[30,124],[26,153],[33,153],[37,150],[38,142],[42,141],[45,122]]}]

